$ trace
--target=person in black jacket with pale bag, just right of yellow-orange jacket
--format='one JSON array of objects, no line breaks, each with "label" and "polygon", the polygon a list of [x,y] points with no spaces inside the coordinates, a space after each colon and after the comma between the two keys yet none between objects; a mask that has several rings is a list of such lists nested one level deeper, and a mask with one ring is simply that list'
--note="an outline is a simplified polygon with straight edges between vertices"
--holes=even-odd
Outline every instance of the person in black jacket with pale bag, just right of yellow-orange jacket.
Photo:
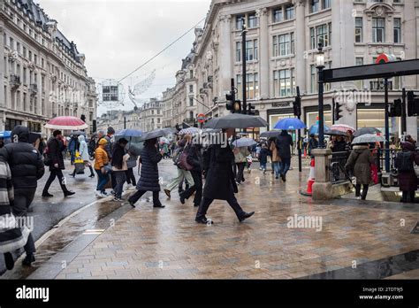
[{"label": "person in black jacket with pale bag, just right of yellow-orange jacket", "polygon": [[113,147],[111,165],[112,173],[115,174],[115,179],[117,181],[114,201],[122,201],[122,190],[126,181],[126,170],[128,170],[126,162],[129,158],[129,154],[126,153],[126,144],[128,144],[128,141],[125,138],[120,138]]}]

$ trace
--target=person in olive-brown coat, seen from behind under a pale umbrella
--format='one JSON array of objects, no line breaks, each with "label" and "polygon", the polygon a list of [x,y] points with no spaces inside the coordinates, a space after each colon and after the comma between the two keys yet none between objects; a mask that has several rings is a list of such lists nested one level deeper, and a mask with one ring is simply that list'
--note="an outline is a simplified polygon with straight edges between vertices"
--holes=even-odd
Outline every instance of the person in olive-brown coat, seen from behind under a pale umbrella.
[{"label": "person in olive-brown coat, seen from behind under a pale umbrella", "polygon": [[[370,165],[374,163],[374,157],[369,151],[368,143],[360,143],[354,145],[354,149],[347,158],[345,168],[352,171],[356,178],[355,196],[361,197],[362,200],[367,198],[369,183],[371,182]],[[362,194],[361,194],[362,186]]]}]

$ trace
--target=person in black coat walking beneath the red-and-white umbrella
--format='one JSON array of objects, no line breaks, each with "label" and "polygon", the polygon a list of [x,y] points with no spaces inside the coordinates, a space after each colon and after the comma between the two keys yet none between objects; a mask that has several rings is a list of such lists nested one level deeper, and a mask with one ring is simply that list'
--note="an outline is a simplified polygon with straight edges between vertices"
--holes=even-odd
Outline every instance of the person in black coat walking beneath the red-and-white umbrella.
[{"label": "person in black coat walking beneath the red-and-white umbrella", "polygon": [[65,138],[61,134],[60,130],[55,130],[53,136],[47,143],[47,156],[50,161],[50,177],[45,183],[45,187],[42,190],[43,197],[52,196],[48,189],[50,189],[51,183],[58,178],[61,189],[63,190],[64,196],[72,196],[75,193],[70,191],[65,186],[65,177],[62,170],[65,169],[63,151],[65,150]]}]

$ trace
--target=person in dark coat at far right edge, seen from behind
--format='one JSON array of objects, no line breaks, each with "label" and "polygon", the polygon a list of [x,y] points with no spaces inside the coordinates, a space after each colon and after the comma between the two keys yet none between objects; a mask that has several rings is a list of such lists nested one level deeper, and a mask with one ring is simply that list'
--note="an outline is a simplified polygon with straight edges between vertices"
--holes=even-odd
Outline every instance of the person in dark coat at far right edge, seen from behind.
[{"label": "person in dark coat at far right edge, seen from behind", "polygon": [[419,153],[416,152],[413,142],[401,142],[401,150],[395,161],[395,167],[399,171],[401,202],[414,203],[417,190],[415,165],[419,165]]}]

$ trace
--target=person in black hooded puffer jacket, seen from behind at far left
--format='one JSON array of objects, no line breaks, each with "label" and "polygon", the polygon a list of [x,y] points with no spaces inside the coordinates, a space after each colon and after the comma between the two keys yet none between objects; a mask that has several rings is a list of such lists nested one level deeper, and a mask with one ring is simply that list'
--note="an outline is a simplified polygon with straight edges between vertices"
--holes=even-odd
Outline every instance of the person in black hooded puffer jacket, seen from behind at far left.
[{"label": "person in black hooded puffer jacket, seen from behind at far left", "polygon": [[[42,156],[29,142],[29,129],[23,126],[14,127],[11,131],[11,143],[0,150],[0,156],[11,168],[11,181],[14,187],[13,214],[27,217],[29,206],[34,200],[38,180],[45,173]],[[34,262],[34,238],[29,234],[25,245],[27,253],[23,260],[25,266]]]}]

